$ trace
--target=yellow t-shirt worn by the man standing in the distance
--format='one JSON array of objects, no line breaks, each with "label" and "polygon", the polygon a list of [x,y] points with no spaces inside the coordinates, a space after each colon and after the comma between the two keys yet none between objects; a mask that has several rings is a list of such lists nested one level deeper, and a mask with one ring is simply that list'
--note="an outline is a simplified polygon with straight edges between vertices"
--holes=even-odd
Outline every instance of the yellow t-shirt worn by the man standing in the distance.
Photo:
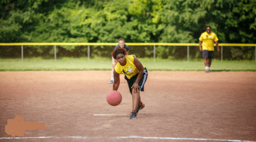
[{"label": "yellow t-shirt worn by the man standing in the distance", "polygon": [[217,38],[215,33],[207,33],[204,32],[201,34],[199,40],[202,42],[202,49],[203,50],[209,50],[209,51],[214,51],[214,43],[218,41],[219,39]]}]

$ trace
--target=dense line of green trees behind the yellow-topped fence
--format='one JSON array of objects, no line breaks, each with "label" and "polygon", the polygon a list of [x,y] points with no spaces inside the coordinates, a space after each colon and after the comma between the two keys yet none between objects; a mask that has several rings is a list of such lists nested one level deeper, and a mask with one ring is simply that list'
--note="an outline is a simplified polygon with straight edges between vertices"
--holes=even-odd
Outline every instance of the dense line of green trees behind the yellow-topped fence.
[{"label": "dense line of green trees behind the yellow-topped fence", "polygon": [[[119,38],[127,43],[198,43],[206,26],[212,27],[219,43],[256,43],[256,0],[1,0],[0,4],[1,43],[117,43]],[[131,51],[152,57],[151,48],[131,47]],[[110,56],[113,49],[98,46],[91,54]],[[24,50],[29,56],[53,54],[52,46]],[[158,46],[157,57],[182,59],[186,50]],[[225,52],[232,60],[254,58],[252,47]],[[17,47],[0,48],[1,57],[19,54]],[[87,48],[58,46],[57,54],[82,56]],[[199,50],[192,56],[200,57]]]}]

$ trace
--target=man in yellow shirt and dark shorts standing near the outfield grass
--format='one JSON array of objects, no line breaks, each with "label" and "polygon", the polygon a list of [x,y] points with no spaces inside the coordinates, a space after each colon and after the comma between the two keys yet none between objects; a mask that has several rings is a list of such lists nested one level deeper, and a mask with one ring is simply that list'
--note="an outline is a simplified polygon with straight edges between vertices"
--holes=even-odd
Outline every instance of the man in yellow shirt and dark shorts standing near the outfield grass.
[{"label": "man in yellow shirt and dark shorts standing near the outfield grass", "polygon": [[[199,50],[203,52],[203,58],[205,58],[205,71],[210,71],[211,59],[214,58],[214,43],[217,47],[217,52],[220,52],[218,38],[215,33],[210,32],[211,27],[206,27],[206,32],[202,33],[199,38]],[[202,48],[203,47],[203,48]],[[207,59],[209,59],[207,61]]]}]

